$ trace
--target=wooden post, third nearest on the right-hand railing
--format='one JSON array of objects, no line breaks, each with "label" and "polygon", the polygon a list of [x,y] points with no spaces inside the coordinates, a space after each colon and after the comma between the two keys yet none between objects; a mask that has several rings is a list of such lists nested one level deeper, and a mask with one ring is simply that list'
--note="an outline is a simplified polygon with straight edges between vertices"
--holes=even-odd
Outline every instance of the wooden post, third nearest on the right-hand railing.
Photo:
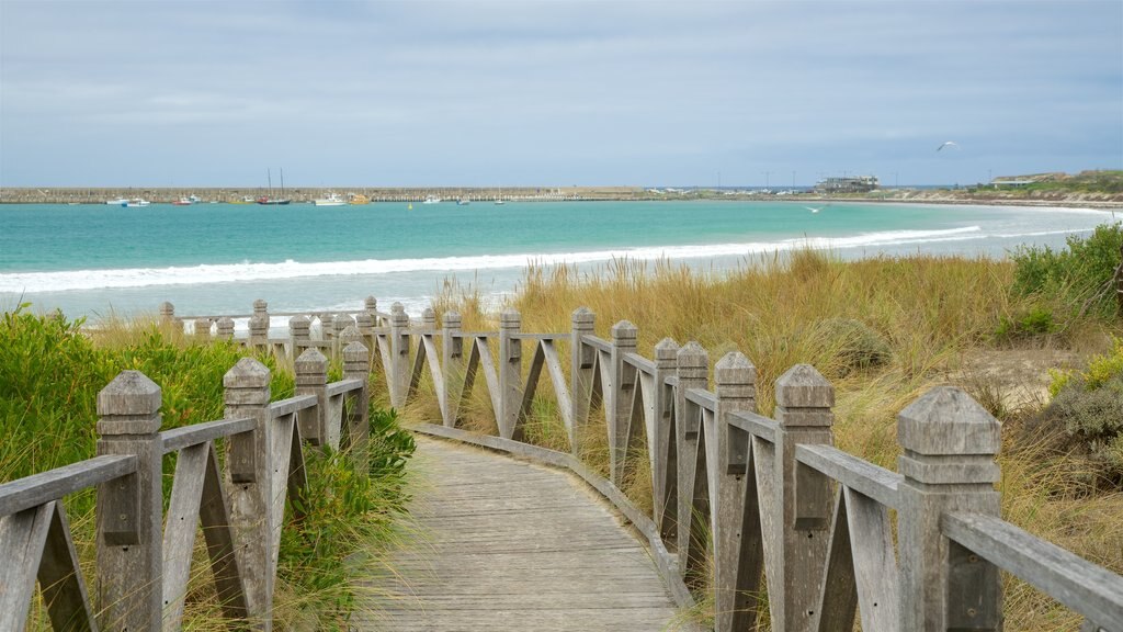
[{"label": "wooden post, third nearest on the right-hand railing", "polygon": [[709,485],[716,500],[710,508],[714,630],[723,632],[746,629],[751,614],[751,596],[739,592],[738,581],[749,444],[745,433],[730,431],[729,422],[733,413],[756,412],[757,368],[743,354],[730,352],[714,365],[713,379],[718,405],[704,430]]}]

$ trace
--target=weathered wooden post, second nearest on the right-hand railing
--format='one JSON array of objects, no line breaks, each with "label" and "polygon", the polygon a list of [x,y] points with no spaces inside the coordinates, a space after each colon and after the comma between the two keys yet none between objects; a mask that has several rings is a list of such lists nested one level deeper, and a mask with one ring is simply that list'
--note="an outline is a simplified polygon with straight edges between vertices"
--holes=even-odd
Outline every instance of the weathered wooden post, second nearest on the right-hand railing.
[{"label": "weathered wooden post, second nearest on the right-hand railing", "polygon": [[768,602],[773,630],[810,630],[822,584],[830,542],[833,497],[830,484],[801,469],[795,461],[797,444],[832,443],[834,387],[810,364],[796,364],[776,380],[779,424],[772,479],[775,507],[761,500]]}]

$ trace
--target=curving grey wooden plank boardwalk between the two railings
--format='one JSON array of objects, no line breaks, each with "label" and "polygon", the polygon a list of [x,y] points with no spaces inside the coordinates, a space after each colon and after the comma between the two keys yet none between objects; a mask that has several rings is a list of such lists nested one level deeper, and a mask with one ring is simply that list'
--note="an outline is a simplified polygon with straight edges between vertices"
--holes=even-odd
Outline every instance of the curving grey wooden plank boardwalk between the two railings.
[{"label": "curving grey wooden plank boardwalk between the two railings", "polygon": [[647,551],[576,477],[418,437],[421,543],[364,630],[674,630]]}]

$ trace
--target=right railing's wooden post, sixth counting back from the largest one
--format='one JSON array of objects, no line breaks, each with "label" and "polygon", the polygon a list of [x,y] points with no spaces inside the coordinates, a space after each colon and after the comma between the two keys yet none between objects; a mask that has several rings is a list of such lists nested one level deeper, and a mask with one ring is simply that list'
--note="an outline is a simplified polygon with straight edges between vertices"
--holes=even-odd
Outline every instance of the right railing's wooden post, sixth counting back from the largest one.
[{"label": "right railing's wooden post, sixth counting back from the largest one", "polygon": [[604,385],[604,416],[609,432],[609,478],[619,485],[623,480],[624,461],[631,426],[632,396],[636,392],[636,368],[624,363],[624,355],[636,353],[639,331],[628,320],[612,325],[611,385]]}]

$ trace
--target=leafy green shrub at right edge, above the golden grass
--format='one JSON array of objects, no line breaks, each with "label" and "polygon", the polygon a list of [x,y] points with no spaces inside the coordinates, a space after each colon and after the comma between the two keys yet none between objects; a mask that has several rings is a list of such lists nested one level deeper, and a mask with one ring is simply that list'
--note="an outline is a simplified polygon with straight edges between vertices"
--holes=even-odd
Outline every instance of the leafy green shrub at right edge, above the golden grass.
[{"label": "leafy green shrub at right edge, above the golden grass", "polygon": [[1092,235],[1070,235],[1068,247],[1021,246],[1014,251],[1013,291],[1019,296],[1037,295],[1051,304],[1067,306],[1074,315],[1089,314],[1113,318],[1119,306],[1111,291],[1112,278],[1120,265],[1123,225],[1102,224]]}]

